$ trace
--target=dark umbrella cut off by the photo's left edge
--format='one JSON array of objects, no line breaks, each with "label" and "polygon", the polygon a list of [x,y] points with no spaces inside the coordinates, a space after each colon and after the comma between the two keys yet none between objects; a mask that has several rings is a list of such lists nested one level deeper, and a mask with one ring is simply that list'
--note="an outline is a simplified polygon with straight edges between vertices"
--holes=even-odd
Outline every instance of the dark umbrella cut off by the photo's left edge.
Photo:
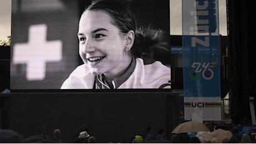
[{"label": "dark umbrella cut off by the photo's left edge", "polygon": [[0,143],[19,143],[24,140],[21,133],[11,129],[0,129]]}]

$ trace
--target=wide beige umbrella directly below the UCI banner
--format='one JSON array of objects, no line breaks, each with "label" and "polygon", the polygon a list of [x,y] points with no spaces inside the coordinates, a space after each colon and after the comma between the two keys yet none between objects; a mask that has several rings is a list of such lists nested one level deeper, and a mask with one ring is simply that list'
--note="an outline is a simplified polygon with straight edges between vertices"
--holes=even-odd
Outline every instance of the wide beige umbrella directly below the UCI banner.
[{"label": "wide beige umbrella directly below the UCI banner", "polygon": [[203,123],[197,121],[183,122],[176,126],[171,133],[186,133],[186,132],[198,132],[198,131],[210,131]]}]

